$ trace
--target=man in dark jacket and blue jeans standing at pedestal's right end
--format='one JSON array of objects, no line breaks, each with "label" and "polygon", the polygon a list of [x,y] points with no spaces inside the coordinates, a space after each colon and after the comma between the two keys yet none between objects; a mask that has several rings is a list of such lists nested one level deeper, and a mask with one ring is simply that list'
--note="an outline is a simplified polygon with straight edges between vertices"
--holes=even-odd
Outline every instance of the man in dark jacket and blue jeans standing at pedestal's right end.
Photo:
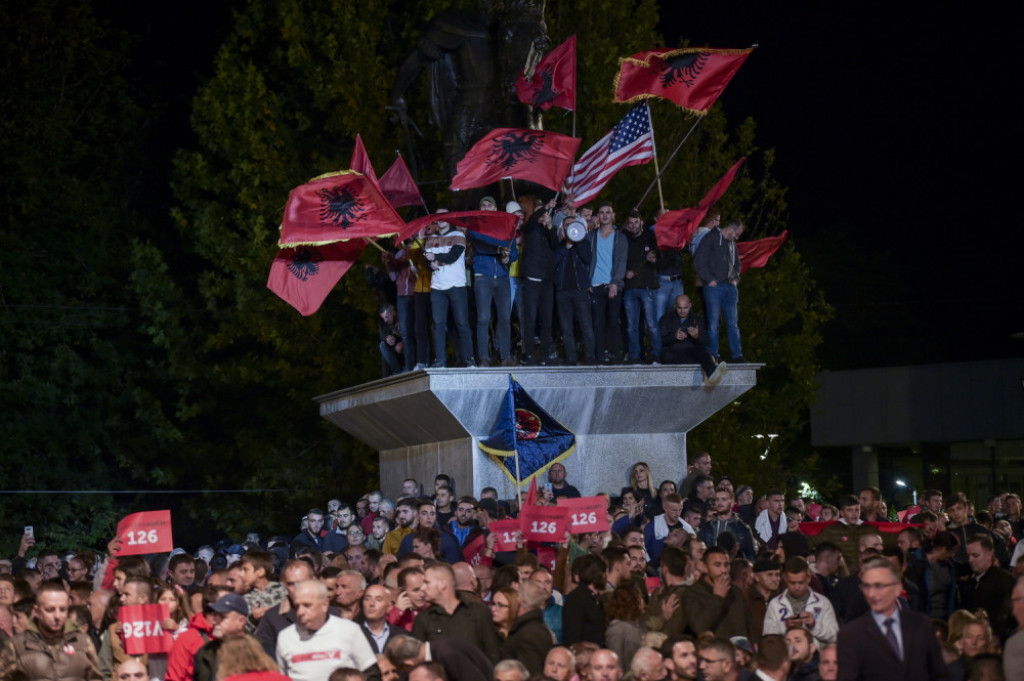
[{"label": "man in dark jacket and blue jeans standing at pedestal's right end", "polygon": [[708,350],[718,359],[718,330],[725,315],[725,329],[733,363],[745,363],[739,342],[739,252],[736,240],[743,233],[743,223],[729,220],[711,229],[697,247],[693,266],[703,282],[708,313]]}]

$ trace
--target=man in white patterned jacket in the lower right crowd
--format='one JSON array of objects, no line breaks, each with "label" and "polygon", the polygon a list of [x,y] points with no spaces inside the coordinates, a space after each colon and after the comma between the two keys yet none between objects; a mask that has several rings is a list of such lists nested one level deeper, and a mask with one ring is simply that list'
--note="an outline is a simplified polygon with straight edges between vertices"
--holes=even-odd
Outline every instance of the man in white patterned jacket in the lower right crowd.
[{"label": "man in white patterned jacket in the lower right crowd", "polygon": [[790,629],[803,627],[814,635],[818,647],[835,643],[839,633],[836,611],[821,594],[811,590],[811,570],[807,560],[794,556],[782,568],[785,589],[768,601],[764,634],[784,636]]}]

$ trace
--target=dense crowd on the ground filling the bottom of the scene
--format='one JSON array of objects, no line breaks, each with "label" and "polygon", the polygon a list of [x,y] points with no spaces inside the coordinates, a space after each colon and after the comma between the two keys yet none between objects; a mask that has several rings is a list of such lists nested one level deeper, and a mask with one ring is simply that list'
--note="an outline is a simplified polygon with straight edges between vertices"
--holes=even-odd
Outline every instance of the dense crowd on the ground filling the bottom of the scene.
[{"label": "dense crowd on the ground filling the bottom of the scene", "polygon": [[[656,485],[636,463],[600,495],[609,529],[514,550],[488,527],[580,497],[563,463],[536,498],[407,479],[191,553],[26,534],[0,559],[0,681],[1024,679],[1017,495],[930,490],[892,522],[876,487],[823,504],[712,466]],[[147,603],[174,642],[130,655],[119,611]]]}]

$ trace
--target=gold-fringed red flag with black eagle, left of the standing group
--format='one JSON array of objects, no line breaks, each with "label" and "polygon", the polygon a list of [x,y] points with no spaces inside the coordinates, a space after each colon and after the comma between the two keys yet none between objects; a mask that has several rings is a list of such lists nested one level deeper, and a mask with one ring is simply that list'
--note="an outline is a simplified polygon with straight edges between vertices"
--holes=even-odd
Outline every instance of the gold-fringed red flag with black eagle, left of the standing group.
[{"label": "gold-fringed red flag with black eagle, left of the standing group", "polygon": [[397,233],[404,222],[366,175],[327,173],[292,189],[278,246],[323,246]]}]

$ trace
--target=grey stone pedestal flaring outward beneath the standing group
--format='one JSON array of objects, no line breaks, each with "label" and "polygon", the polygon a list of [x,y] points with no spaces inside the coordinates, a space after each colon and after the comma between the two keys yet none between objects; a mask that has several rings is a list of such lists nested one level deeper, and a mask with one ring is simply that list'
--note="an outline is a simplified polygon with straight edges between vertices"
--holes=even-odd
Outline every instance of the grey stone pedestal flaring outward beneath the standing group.
[{"label": "grey stone pedestal flaring outward beneath the standing group", "polygon": [[[730,365],[703,385],[699,367],[522,367],[511,370],[526,392],[577,435],[567,481],[584,496],[617,494],[638,461],[656,485],[686,471],[686,433],[757,382],[763,365]],[[316,397],[321,415],[380,452],[381,488],[407,477],[430,488],[447,473],[457,494],[514,483],[477,442],[494,427],[509,369],[429,369]]]}]

